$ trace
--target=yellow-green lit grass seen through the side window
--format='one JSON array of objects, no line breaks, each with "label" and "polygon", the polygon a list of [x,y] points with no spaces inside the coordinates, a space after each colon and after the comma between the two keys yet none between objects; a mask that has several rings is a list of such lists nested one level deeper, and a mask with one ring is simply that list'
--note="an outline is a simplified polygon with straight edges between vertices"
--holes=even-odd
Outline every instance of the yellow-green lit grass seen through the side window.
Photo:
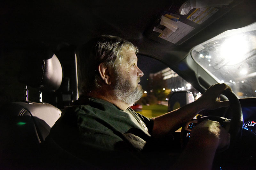
[{"label": "yellow-green lit grass seen through the side window", "polygon": [[167,106],[164,105],[143,105],[142,111],[138,111],[138,113],[146,116],[146,117],[157,117],[167,113]]}]

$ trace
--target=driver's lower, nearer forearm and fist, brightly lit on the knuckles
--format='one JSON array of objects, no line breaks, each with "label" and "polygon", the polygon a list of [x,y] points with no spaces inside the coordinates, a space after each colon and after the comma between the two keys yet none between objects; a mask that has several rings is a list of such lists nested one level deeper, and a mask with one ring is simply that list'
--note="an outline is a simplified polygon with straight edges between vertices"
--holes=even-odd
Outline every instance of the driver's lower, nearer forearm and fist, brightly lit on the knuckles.
[{"label": "driver's lower, nearer forearm and fist, brightly lit on the knuckles", "polygon": [[210,170],[215,152],[229,143],[230,134],[219,122],[205,120],[193,128],[186,148],[171,169]]}]

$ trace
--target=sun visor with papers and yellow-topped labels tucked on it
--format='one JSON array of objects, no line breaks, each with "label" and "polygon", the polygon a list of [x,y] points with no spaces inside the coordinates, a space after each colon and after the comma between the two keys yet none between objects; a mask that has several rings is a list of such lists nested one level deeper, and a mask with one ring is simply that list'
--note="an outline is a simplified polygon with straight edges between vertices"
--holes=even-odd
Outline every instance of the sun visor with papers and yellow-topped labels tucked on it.
[{"label": "sun visor with papers and yellow-topped labels tucked on it", "polygon": [[[218,18],[235,6],[236,3],[232,3],[232,0],[188,0],[162,11],[158,20],[148,27],[145,34],[148,38],[165,45],[180,45],[213,22],[217,23]],[[180,14],[182,9],[186,15]]]}]

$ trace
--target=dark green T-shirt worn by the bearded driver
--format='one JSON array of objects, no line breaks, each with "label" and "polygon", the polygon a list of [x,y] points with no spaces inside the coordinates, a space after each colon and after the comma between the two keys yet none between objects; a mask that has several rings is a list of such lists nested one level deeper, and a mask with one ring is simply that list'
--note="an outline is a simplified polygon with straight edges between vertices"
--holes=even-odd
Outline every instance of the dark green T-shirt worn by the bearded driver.
[{"label": "dark green T-shirt worn by the bearded driver", "polygon": [[63,110],[46,143],[92,167],[148,169],[144,150],[151,138],[152,119],[85,96],[73,105]]}]

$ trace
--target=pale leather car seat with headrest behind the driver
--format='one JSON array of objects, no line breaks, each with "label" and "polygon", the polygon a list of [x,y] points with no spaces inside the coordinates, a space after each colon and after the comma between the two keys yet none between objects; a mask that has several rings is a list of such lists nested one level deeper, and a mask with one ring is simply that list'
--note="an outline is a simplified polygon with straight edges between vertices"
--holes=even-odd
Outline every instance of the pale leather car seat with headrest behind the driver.
[{"label": "pale leather car seat with headrest behind the driver", "polygon": [[0,169],[38,169],[41,143],[61,114],[58,108],[42,102],[42,95],[41,101],[29,101],[27,89],[27,85],[37,88],[39,94],[56,91],[62,81],[60,61],[49,51],[25,60],[18,76],[25,84],[24,101],[5,104],[0,112]]}]

